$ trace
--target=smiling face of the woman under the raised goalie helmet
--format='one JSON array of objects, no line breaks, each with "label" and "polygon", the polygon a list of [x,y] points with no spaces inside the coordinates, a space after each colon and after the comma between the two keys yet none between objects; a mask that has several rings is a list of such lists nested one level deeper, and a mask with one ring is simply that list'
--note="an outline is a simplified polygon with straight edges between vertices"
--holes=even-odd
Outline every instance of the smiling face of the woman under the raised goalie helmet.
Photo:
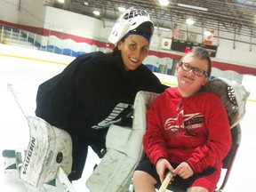
[{"label": "smiling face of the woman under the raised goalie helmet", "polygon": [[117,47],[121,51],[125,70],[135,70],[148,56],[148,40],[140,35],[128,36]]}]

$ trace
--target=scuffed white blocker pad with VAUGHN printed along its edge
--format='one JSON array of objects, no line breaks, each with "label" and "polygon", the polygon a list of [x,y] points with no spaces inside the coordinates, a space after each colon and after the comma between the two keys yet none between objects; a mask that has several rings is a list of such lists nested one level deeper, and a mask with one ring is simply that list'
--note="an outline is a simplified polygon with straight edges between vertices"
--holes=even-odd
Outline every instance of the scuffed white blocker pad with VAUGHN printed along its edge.
[{"label": "scuffed white blocker pad with VAUGHN printed along its edge", "polygon": [[72,166],[72,140],[68,132],[36,116],[28,116],[27,119],[30,140],[20,178],[37,187],[54,180],[60,167],[69,174]]}]

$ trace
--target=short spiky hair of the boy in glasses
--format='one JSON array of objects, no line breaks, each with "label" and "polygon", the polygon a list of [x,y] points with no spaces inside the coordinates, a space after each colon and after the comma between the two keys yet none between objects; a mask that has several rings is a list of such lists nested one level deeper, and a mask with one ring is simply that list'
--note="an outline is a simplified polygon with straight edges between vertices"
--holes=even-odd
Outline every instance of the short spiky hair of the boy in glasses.
[{"label": "short spiky hair of the boy in glasses", "polygon": [[207,69],[207,74],[208,76],[211,76],[212,73],[212,60],[210,58],[210,53],[204,48],[204,47],[194,47],[192,52],[189,52],[192,55],[194,55],[196,58],[200,60],[207,60],[208,63],[208,69]]}]

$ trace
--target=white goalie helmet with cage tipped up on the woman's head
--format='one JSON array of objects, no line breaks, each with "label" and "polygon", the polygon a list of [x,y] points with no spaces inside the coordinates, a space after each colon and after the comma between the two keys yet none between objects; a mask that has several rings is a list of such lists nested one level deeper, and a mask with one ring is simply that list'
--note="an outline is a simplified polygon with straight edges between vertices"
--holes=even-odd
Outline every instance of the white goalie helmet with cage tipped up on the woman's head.
[{"label": "white goalie helmet with cage tipped up on the woman's head", "polygon": [[146,11],[129,9],[116,21],[115,26],[108,37],[108,41],[116,44],[124,36],[132,34],[144,36],[148,43],[154,32],[154,24]]}]

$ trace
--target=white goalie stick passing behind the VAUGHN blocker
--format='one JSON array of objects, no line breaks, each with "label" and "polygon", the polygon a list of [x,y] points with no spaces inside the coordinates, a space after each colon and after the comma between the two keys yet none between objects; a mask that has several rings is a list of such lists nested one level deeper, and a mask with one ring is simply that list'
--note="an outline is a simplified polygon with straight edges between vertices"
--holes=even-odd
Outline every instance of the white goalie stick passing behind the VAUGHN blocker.
[{"label": "white goalie stick passing behind the VAUGHN blocker", "polygon": [[[28,121],[28,114],[23,110],[23,108],[20,105],[20,101],[18,100],[18,97],[16,95],[16,93],[14,92],[13,88],[12,88],[12,84],[7,84],[7,88],[10,92],[12,92],[12,96],[14,98],[14,100],[16,101],[16,103],[18,104],[20,111],[22,112],[22,114],[25,116],[25,118]],[[30,124],[28,123],[29,127]],[[21,160],[21,156],[19,156],[20,154],[16,154],[16,161],[17,161],[17,165],[19,164],[19,166],[17,166],[17,169],[20,173],[20,164],[22,166],[22,160]],[[63,186],[63,188],[65,188],[66,192],[76,192],[75,188],[73,188],[71,182],[68,180],[68,177],[66,175],[66,173],[64,172],[64,170],[62,169],[62,167],[60,166],[57,172],[57,178],[60,180],[61,185]],[[25,181],[25,180],[24,180]]]}]

